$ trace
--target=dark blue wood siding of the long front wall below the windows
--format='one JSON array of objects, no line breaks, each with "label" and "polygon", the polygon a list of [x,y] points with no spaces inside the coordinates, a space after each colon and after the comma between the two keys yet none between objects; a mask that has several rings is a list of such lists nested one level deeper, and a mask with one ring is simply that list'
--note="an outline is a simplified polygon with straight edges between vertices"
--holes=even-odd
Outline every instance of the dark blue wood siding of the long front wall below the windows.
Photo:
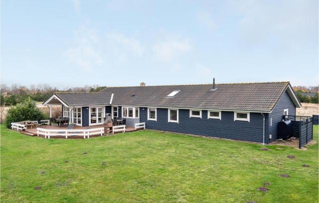
[{"label": "dark blue wood siding of the long front wall below the windows", "polygon": [[179,109],[178,123],[170,123],[167,122],[168,111],[165,108],[157,108],[157,121],[148,121],[148,109],[140,109],[140,122],[146,122],[148,129],[263,142],[261,113],[250,113],[250,122],[248,122],[234,121],[234,112],[231,111],[222,111],[221,120],[219,120],[207,119],[206,110],[202,110],[202,118],[189,118],[188,109]]}]

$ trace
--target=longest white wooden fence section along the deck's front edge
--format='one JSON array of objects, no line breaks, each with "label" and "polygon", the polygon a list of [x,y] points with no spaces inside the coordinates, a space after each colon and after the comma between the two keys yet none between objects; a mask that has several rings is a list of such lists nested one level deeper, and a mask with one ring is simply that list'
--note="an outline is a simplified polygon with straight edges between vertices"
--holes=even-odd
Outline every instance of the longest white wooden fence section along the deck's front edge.
[{"label": "longest white wooden fence section along the deck's front edge", "polygon": [[92,129],[45,129],[45,128],[36,128],[36,134],[44,135],[45,138],[50,139],[50,136],[65,136],[67,139],[68,136],[83,136],[90,138],[90,135],[103,135],[104,128],[92,128]]}]

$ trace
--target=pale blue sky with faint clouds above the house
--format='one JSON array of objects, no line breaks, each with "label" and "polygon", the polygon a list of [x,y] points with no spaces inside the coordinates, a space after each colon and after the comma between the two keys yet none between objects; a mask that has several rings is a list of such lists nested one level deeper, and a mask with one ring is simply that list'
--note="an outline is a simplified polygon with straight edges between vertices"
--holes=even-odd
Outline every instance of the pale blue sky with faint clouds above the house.
[{"label": "pale blue sky with faint clouds above the house", "polygon": [[1,83],[318,85],[317,0],[2,0]]}]

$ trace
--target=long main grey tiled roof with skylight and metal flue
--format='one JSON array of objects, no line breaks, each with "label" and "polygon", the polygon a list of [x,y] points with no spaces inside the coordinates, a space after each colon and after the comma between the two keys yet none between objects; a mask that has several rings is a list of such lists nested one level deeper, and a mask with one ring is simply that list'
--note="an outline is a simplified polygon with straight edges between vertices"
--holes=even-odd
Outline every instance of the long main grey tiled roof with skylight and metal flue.
[{"label": "long main grey tiled roof with skylight and metal flue", "polygon": [[[215,91],[210,91],[212,84],[106,87],[100,93],[114,93],[114,105],[271,111],[288,85],[289,82],[215,84]],[[167,97],[173,90],[180,92]]]}]

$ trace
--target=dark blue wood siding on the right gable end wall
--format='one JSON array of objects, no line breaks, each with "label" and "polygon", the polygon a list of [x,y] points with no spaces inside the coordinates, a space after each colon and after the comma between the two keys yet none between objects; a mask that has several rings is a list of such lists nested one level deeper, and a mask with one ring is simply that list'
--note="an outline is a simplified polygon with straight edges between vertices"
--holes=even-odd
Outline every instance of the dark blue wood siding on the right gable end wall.
[{"label": "dark blue wood siding on the right gable end wall", "polygon": [[[272,113],[269,114],[268,125],[269,133],[266,136],[266,143],[270,143],[274,140],[277,140],[277,124],[282,121],[284,115],[284,109],[288,109],[288,114],[295,116],[296,115],[296,105],[290,98],[287,91],[279,99]],[[270,119],[272,118],[272,126],[270,126]],[[272,135],[272,139],[269,139],[269,135]]]}]

